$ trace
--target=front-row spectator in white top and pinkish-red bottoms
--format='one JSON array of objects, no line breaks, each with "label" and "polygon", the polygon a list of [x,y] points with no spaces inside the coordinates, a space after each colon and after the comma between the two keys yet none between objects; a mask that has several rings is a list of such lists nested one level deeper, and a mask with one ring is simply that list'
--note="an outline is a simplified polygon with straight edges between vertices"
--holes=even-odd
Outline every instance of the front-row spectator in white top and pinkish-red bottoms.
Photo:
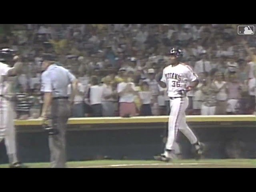
[{"label": "front-row spectator in white top and pinkish-red bottoms", "polygon": [[119,115],[121,117],[135,116],[136,106],[134,98],[138,93],[135,90],[134,83],[128,82],[127,73],[124,73],[122,78],[124,82],[120,82],[117,85],[117,92],[119,95]]}]

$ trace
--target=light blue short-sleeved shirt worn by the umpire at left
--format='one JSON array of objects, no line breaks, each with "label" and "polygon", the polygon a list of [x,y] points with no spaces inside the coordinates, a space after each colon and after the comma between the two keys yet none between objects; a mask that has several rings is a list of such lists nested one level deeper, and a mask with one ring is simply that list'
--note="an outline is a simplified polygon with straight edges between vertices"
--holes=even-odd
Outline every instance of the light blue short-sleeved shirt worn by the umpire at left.
[{"label": "light blue short-sleeved shirt worn by the umpire at left", "polygon": [[67,69],[56,64],[50,65],[42,73],[42,92],[52,92],[52,97],[68,97],[68,85],[76,77]]}]

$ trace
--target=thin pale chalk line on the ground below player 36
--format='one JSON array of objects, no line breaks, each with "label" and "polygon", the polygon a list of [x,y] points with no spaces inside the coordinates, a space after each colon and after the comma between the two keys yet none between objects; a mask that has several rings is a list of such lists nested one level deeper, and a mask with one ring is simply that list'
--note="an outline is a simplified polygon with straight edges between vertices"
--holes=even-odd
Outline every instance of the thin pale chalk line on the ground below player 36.
[{"label": "thin pale chalk line on the ground below player 36", "polygon": [[152,164],[118,164],[118,165],[95,165],[95,166],[80,166],[75,168],[108,168],[108,167],[135,167],[135,166],[168,166],[168,165],[178,165],[178,166],[198,166],[198,165],[212,165],[208,163],[152,163]]}]

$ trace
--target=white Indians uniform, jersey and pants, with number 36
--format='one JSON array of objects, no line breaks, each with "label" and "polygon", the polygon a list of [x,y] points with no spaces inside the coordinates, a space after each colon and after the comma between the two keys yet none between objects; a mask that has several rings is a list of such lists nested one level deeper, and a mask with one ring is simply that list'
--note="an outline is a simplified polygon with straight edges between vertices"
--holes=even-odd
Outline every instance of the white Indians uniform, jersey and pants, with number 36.
[{"label": "white Indians uniform, jersey and pants, with number 36", "polygon": [[171,108],[166,150],[174,150],[178,130],[188,138],[191,144],[198,142],[196,136],[186,124],[185,110],[188,107],[188,97],[182,96],[179,92],[185,90],[190,82],[197,79],[198,76],[193,70],[183,63],[176,66],[167,66],[163,70],[161,81],[166,83]]}]

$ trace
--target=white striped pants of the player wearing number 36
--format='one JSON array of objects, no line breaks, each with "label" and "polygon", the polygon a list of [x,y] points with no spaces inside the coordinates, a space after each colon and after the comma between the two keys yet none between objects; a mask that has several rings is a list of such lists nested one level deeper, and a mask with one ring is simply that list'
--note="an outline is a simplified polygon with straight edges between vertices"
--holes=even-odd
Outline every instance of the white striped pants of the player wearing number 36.
[{"label": "white striped pants of the player wearing number 36", "polygon": [[170,117],[168,123],[168,138],[166,142],[167,150],[175,150],[174,142],[176,141],[176,136],[178,130],[180,130],[190,141],[191,144],[197,142],[197,138],[192,130],[188,127],[186,123],[185,110],[188,107],[188,98],[175,98],[170,100]]}]

